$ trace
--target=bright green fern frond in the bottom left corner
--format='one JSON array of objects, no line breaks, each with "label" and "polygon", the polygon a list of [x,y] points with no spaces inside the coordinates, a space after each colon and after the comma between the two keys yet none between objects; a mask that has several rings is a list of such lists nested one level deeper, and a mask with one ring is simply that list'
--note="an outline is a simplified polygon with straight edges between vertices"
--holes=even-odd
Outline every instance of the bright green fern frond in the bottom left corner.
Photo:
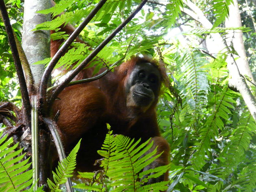
[{"label": "bright green fern frond in the bottom left corner", "polygon": [[28,163],[29,158],[22,160],[25,155],[22,154],[23,149],[14,151],[18,144],[9,147],[13,139],[6,139],[7,135],[0,139],[0,192],[32,191],[24,190],[33,182],[33,170],[28,170],[31,164]]}]

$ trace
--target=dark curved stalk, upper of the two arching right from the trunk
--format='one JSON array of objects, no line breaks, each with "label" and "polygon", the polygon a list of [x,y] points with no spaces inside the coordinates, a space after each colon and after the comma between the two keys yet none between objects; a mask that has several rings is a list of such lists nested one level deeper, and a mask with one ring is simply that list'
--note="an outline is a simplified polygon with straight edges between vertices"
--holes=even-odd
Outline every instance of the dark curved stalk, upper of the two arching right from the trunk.
[{"label": "dark curved stalk, upper of the two arching right from the trunk", "polygon": [[46,67],[46,70],[43,73],[42,80],[39,87],[39,97],[40,102],[44,107],[45,104],[45,97],[46,97],[46,88],[48,83],[48,78],[52,73],[53,68],[55,67],[56,63],[59,61],[63,53],[67,50],[69,45],[78,37],[80,32],[87,26],[87,24],[91,21],[91,19],[95,16],[95,14],[100,10],[100,8],[104,5],[106,0],[101,0],[95,8],[91,11],[91,13],[85,18],[85,20],[76,28],[76,30],[70,35],[70,37],[65,41],[65,43],[61,46],[58,52],[53,56],[52,60],[50,61],[49,65]]}]

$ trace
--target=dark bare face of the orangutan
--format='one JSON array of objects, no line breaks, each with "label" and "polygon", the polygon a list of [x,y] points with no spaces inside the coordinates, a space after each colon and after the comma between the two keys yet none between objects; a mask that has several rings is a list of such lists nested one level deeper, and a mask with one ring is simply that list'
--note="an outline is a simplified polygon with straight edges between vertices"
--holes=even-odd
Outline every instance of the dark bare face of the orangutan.
[{"label": "dark bare face of the orangutan", "polygon": [[126,93],[129,97],[128,105],[150,106],[159,94],[160,84],[161,75],[154,65],[151,63],[137,63],[126,86]]}]

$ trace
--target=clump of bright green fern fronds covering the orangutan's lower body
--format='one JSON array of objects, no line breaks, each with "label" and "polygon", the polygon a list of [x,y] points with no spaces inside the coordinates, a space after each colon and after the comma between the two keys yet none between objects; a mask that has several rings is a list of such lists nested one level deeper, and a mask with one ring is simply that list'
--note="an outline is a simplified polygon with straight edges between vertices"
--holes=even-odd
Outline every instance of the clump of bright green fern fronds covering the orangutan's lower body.
[{"label": "clump of bright green fern fronds covering the orangutan's lower body", "polygon": [[[104,159],[100,162],[102,171],[96,173],[79,173],[89,180],[89,185],[78,184],[75,188],[98,192],[144,192],[166,190],[169,181],[146,184],[149,179],[163,175],[170,165],[143,170],[161,154],[156,155],[156,149],[151,150],[153,142],[150,139],[142,144],[123,135],[113,135],[109,131],[98,151]],[[140,145],[139,145],[140,144]]]}]

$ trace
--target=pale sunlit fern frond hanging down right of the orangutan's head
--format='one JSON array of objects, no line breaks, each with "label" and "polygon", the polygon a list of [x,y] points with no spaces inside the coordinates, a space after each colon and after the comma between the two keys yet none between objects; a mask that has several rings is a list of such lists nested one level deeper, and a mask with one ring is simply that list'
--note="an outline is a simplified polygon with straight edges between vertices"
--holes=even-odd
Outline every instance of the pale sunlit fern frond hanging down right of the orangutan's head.
[{"label": "pale sunlit fern frond hanging down right of the orangutan's head", "polygon": [[208,102],[208,72],[204,68],[208,61],[204,58],[201,52],[191,50],[182,53],[178,66],[181,69],[183,88],[181,97],[184,108],[180,113],[180,120],[186,120],[191,123],[191,127],[197,131],[197,122],[204,113],[204,108]]}]

